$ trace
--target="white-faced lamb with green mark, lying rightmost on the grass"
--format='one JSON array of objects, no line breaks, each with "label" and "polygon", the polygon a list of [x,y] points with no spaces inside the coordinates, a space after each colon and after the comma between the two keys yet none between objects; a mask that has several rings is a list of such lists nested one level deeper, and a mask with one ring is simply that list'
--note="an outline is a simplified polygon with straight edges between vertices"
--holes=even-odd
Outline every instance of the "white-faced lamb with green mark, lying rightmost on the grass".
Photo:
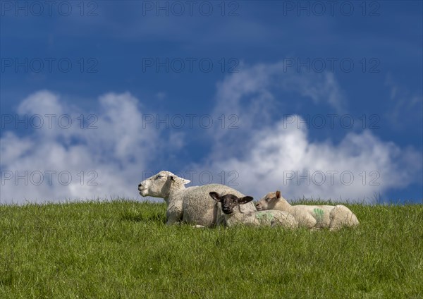
[{"label": "white-faced lamb with green mark, lying rightmost on the grass", "polygon": [[356,226],[357,217],[344,205],[290,205],[281,196],[281,191],[267,193],[256,204],[257,211],[277,209],[293,214],[300,226],[307,228],[329,228],[331,231],[342,226]]}]

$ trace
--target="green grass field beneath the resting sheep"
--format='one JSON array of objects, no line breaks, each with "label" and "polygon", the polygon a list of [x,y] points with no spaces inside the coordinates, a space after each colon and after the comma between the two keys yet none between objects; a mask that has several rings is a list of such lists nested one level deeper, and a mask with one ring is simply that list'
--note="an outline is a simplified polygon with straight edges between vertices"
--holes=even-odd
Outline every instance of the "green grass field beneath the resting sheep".
[{"label": "green grass field beneath the resting sheep", "polygon": [[0,298],[423,298],[423,205],[338,232],[166,226],[166,205],[0,206]]}]

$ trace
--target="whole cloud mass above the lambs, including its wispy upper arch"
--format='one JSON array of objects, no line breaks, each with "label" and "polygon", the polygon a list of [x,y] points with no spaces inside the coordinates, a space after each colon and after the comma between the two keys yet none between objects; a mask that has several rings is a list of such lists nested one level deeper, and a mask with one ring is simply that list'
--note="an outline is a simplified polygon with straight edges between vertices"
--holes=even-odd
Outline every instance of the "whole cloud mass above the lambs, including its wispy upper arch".
[{"label": "whole cloud mass above the lambs, including its wispy upper arch", "polygon": [[282,63],[246,68],[223,80],[216,94],[216,114],[237,114],[238,129],[212,132],[212,153],[204,165],[192,168],[235,172],[238,188],[256,198],[279,189],[293,199],[370,202],[421,181],[422,157],[412,148],[401,149],[369,130],[347,133],[336,144],[312,141],[305,126],[291,122],[299,115],[271,116],[277,88],[315,103],[326,101],[335,111],[345,109],[346,99],[331,74],[286,73]]}]

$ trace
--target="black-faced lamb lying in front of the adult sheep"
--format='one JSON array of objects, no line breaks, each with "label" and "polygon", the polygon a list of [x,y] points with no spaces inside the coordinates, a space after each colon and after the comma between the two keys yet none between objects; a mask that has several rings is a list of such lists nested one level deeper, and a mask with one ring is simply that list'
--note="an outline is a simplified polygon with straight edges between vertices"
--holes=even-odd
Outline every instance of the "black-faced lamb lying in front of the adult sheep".
[{"label": "black-faced lamb lying in front of the adult sheep", "polygon": [[216,202],[221,203],[221,211],[225,216],[226,226],[236,224],[246,224],[253,226],[284,226],[286,228],[298,227],[298,221],[288,212],[277,211],[276,209],[266,212],[241,212],[240,207],[252,201],[251,196],[238,197],[233,194],[219,195],[219,193],[209,193]]}]

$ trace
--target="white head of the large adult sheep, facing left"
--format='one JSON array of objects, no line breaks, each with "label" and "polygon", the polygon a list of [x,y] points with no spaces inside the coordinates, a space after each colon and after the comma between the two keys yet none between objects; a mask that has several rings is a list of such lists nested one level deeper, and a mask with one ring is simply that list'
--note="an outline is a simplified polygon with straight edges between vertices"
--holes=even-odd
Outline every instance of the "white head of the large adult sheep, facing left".
[{"label": "white head of the large adult sheep, facing left", "polygon": [[138,184],[140,195],[167,198],[171,188],[182,188],[190,180],[180,178],[170,171],[160,171]]}]

